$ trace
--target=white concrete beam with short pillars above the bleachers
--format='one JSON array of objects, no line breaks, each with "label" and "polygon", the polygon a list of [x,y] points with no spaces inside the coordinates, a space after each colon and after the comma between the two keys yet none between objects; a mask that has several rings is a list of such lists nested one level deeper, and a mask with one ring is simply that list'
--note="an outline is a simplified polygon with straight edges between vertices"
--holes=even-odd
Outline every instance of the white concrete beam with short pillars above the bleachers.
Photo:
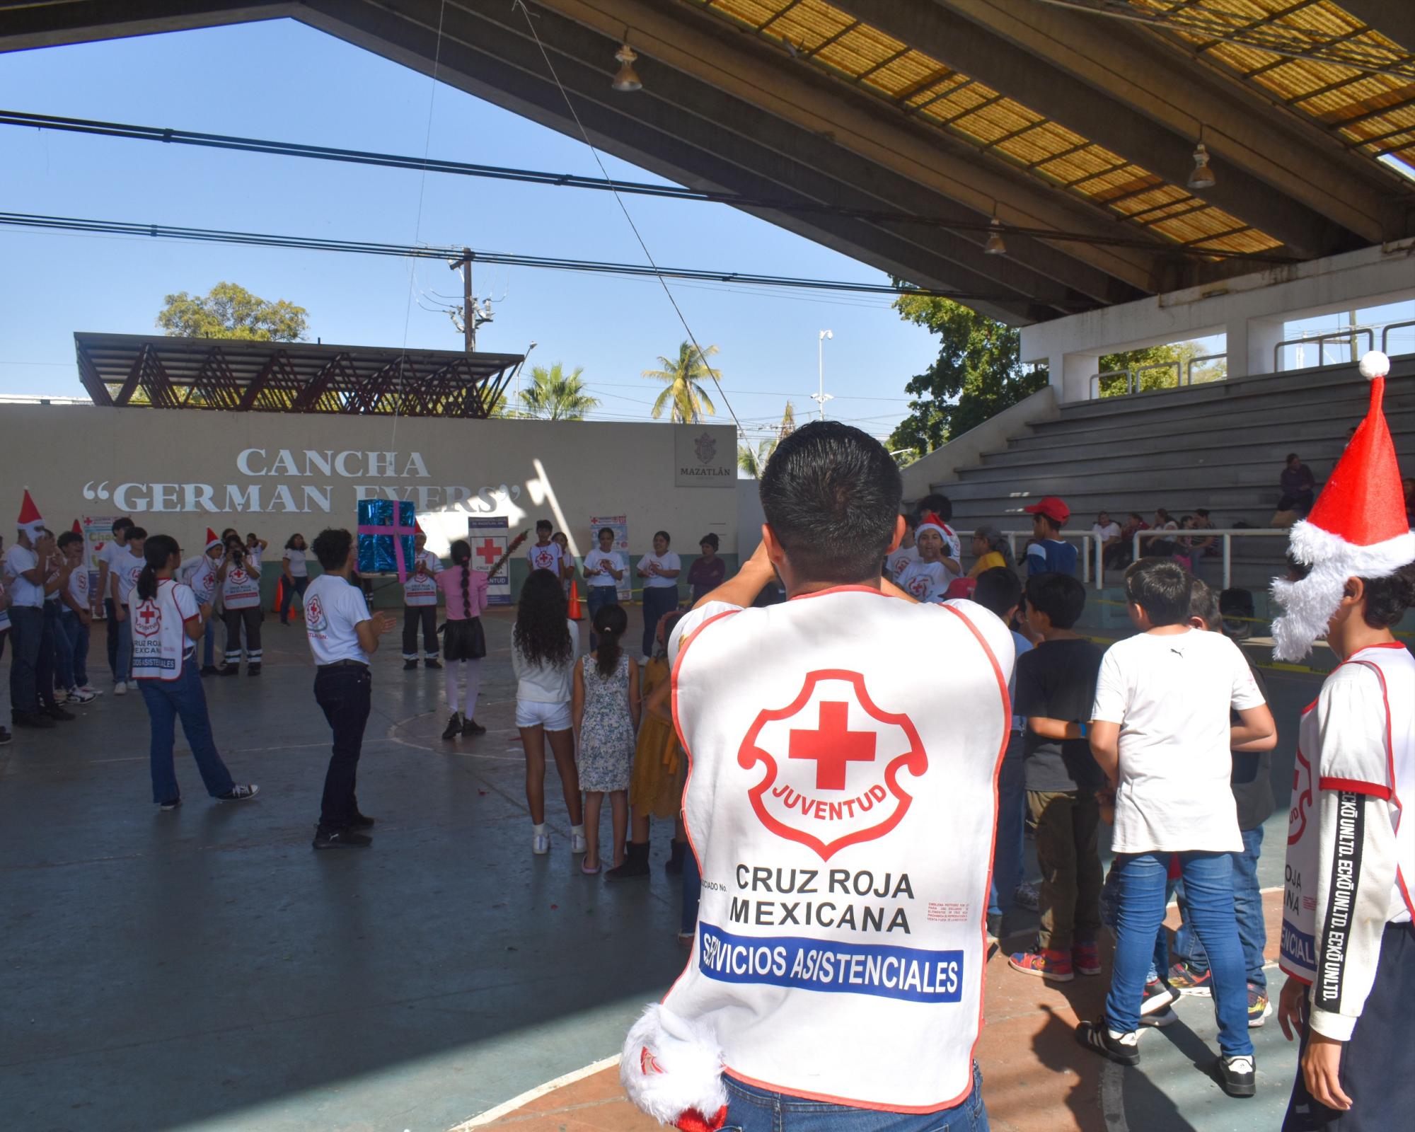
[{"label": "white concrete beam with short pillars above the bleachers", "polygon": [[1102,354],[1211,334],[1228,335],[1230,378],[1271,374],[1285,321],[1412,297],[1415,239],[1405,239],[1023,327],[1022,358],[1047,364],[1061,402],[1090,399]]}]

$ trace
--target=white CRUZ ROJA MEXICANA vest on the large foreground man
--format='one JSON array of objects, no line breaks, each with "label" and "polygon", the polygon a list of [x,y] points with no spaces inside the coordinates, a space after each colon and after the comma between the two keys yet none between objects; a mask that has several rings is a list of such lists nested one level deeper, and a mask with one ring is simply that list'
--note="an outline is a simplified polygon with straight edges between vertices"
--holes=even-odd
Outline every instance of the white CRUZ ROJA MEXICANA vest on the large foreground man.
[{"label": "white CRUZ ROJA MEXICANA vest on the large foreground man", "polygon": [[981,606],[863,587],[729,613],[682,647],[703,887],[664,1005],[716,1032],[727,1073],[887,1111],[968,1095],[1010,671]]}]

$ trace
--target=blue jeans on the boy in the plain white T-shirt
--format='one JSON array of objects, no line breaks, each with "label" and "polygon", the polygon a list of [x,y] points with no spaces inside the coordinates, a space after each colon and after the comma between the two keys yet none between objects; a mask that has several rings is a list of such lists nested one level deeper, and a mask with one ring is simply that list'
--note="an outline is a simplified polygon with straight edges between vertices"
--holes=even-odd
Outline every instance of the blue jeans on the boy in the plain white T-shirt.
[{"label": "blue jeans on the boy in the plain white T-shirt", "polygon": [[[1116,882],[1115,965],[1105,996],[1107,1024],[1118,1033],[1139,1029],[1145,975],[1155,957],[1155,935],[1165,921],[1169,853],[1121,853],[1111,869]],[[1213,971],[1218,1049],[1225,1056],[1251,1054],[1248,988],[1234,920],[1232,863],[1228,853],[1179,855],[1194,931]]]}]

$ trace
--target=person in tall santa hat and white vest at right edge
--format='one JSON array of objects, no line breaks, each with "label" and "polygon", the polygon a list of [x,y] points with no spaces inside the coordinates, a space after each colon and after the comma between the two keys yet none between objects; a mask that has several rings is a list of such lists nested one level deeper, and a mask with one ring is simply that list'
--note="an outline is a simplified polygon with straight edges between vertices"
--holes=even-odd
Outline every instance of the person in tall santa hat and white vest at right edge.
[{"label": "person in tall santa hat and white vest at right edge", "polygon": [[1415,1121],[1415,532],[1381,412],[1390,362],[1361,358],[1371,405],[1274,582],[1278,659],[1317,635],[1340,665],[1302,715],[1288,828],[1278,1020],[1302,1039],[1285,1132]]}]

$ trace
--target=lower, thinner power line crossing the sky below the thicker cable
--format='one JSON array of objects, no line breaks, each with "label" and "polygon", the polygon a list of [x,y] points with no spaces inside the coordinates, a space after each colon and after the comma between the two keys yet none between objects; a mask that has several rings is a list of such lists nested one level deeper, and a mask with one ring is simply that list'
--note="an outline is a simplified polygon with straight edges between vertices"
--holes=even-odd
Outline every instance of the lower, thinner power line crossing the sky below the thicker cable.
[{"label": "lower, thinner power line crossing the sky below the thicker cable", "polygon": [[[460,259],[460,248],[433,248],[374,241],[325,239],[323,236],[280,236],[266,232],[233,232],[221,228],[175,228],[164,224],[134,224],[130,221],[99,221],[83,216],[45,216],[33,212],[0,212],[0,225],[11,228],[59,229],[68,232],[96,232],[103,235],[153,236],[183,239],[198,243],[241,243],[260,248],[290,248],[307,252],[351,252],[354,255],[398,256],[410,259]],[[886,283],[852,283],[836,279],[798,279],[792,276],[751,275],[749,272],[706,270],[702,267],[658,267],[645,263],[610,263],[594,259],[563,259],[559,256],[528,256],[514,252],[473,252],[480,263],[507,263],[514,267],[541,267],[558,272],[589,272],[591,275],[647,276],[657,279],[696,279],[709,283],[739,283],[760,287],[794,287],[819,291],[857,291],[862,294],[917,294],[937,299],[988,299],[999,294],[964,294],[924,287],[894,287]]]}]

